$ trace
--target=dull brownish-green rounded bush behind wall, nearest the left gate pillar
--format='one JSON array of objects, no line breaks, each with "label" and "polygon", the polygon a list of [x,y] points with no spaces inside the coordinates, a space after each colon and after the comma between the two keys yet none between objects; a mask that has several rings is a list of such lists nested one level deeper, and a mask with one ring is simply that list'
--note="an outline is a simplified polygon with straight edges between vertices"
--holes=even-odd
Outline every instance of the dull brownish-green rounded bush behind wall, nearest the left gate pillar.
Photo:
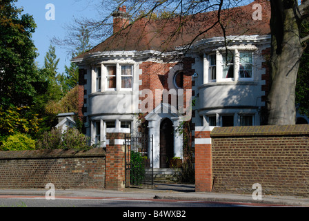
[{"label": "dull brownish-green rounded bush behind wall, nearest the left gate pillar", "polygon": [[91,148],[88,144],[90,138],[83,135],[75,128],[68,128],[65,133],[61,132],[61,128],[53,128],[50,132],[45,132],[37,140],[38,149],[77,149],[88,150]]}]

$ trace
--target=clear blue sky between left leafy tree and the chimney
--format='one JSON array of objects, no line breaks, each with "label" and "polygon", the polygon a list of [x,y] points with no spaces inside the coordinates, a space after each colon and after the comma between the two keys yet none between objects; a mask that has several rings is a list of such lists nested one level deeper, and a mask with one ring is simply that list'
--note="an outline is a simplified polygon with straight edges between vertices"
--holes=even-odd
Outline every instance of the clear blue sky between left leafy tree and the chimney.
[{"label": "clear blue sky between left leafy tree and the chimney", "polygon": [[[32,35],[34,44],[39,52],[37,63],[39,67],[44,64],[44,57],[50,46],[52,37],[63,38],[66,34],[64,26],[72,23],[74,17],[95,17],[97,10],[90,6],[87,0],[18,0],[15,5],[23,7],[23,14],[33,15],[37,29]],[[46,5],[52,3],[55,7],[55,20],[46,20]],[[57,57],[60,58],[58,72],[64,72],[64,66],[70,65],[70,57],[66,50],[56,46]]]}]

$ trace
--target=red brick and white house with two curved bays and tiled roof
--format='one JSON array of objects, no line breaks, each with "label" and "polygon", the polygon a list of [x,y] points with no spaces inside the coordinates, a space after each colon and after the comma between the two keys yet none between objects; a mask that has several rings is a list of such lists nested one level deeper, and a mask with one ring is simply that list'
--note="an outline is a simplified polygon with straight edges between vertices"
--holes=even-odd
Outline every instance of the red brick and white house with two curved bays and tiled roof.
[{"label": "red brick and white house with two curved bays and tiled roof", "polygon": [[[261,20],[252,15],[261,6]],[[183,158],[182,122],[195,126],[263,124],[269,90],[270,3],[179,18],[130,23],[126,7],[114,12],[114,35],[75,57],[79,117],[94,142],[124,131],[154,136],[154,167]],[[207,32],[204,30],[209,29]]]}]

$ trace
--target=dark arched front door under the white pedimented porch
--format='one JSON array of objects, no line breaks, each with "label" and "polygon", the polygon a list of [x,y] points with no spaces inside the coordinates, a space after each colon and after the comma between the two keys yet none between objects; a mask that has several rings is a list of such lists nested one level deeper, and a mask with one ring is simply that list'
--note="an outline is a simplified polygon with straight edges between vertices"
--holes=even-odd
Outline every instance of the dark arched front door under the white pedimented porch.
[{"label": "dark arched front door under the white pedimented porch", "polygon": [[174,157],[174,127],[168,118],[160,126],[160,168],[169,168],[169,161]]}]

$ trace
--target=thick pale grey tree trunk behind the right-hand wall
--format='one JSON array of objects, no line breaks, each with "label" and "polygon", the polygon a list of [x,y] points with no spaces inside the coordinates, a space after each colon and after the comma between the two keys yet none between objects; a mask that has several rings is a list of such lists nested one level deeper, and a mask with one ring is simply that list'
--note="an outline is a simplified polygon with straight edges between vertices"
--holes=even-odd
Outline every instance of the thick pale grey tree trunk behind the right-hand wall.
[{"label": "thick pale grey tree trunk behind the right-hand wall", "polygon": [[309,1],[270,0],[272,18],[271,88],[268,124],[295,124],[295,88],[301,56],[309,36],[301,37],[301,23],[308,17]]}]

